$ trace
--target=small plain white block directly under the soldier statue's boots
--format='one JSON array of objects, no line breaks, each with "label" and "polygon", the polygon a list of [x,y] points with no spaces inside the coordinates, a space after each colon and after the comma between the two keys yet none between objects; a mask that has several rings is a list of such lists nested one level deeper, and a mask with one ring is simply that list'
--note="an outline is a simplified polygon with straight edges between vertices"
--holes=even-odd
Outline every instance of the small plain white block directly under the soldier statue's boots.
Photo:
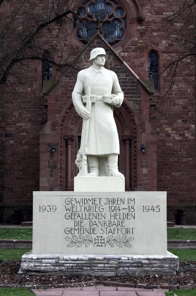
[{"label": "small plain white block directly under the soldier statue's boots", "polygon": [[124,192],[124,177],[75,177],[74,192]]}]

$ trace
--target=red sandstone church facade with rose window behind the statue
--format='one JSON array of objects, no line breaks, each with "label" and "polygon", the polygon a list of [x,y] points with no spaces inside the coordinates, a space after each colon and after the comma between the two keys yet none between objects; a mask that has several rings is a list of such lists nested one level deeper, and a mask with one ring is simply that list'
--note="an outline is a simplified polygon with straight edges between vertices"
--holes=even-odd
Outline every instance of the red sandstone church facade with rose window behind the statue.
[{"label": "red sandstone church facade with rose window behind the statue", "polygon": [[[31,220],[33,191],[73,191],[82,119],[71,97],[77,73],[90,66],[95,47],[105,49],[105,67],[117,74],[124,93],[114,118],[125,190],[167,191],[168,220],[174,221],[181,208],[187,223],[196,223],[195,57],[175,71],[170,66],[183,52],[178,35],[190,33],[190,26],[169,22],[180,2],[77,1],[73,34],[61,39],[75,49],[70,50],[72,62],[61,72],[39,62],[36,71],[28,68],[23,95],[4,94],[1,223],[12,222],[17,211],[24,221]],[[24,76],[26,70],[21,66]]]}]

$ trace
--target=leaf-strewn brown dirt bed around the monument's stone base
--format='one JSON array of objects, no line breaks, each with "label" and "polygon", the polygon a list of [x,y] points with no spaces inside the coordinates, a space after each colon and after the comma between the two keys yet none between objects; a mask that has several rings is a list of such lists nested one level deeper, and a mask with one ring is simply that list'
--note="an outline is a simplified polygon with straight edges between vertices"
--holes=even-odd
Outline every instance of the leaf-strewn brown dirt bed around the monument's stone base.
[{"label": "leaf-strewn brown dirt bed around the monument's stone base", "polygon": [[[146,284],[147,287],[153,285],[195,285],[196,284],[196,262],[193,261],[180,261],[180,268],[173,276],[116,276],[116,277],[95,277],[95,276],[64,276],[64,275],[28,275],[18,274],[20,268],[20,260],[10,260],[0,262],[0,286],[41,286],[51,285],[53,287],[59,284],[72,284],[72,286],[80,285],[78,282],[86,282],[86,286],[92,286],[89,281],[116,281],[119,283],[132,283],[135,286]],[[89,282],[89,283],[88,283]],[[74,284],[75,283],[75,284]],[[77,283],[77,284],[76,284]]]}]

